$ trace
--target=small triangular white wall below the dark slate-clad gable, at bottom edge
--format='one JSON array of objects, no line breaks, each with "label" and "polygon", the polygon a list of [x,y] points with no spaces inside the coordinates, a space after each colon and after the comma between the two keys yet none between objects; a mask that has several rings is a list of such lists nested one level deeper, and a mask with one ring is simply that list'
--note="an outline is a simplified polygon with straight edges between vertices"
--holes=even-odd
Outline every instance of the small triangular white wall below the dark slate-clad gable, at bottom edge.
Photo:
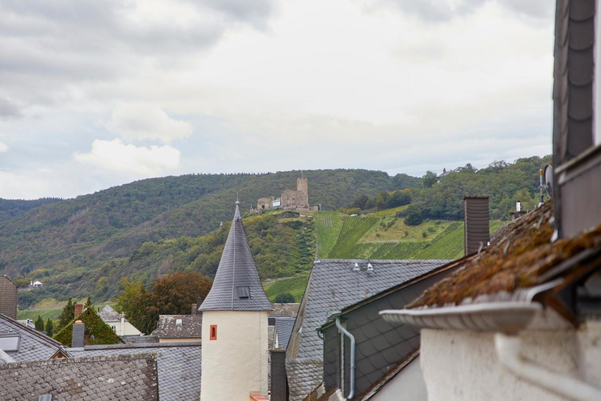
[{"label": "small triangular white wall below the dark slate-clad gable, at bottom edge", "polygon": [[370,401],[427,401],[426,383],[419,366],[419,356],[397,373]]}]

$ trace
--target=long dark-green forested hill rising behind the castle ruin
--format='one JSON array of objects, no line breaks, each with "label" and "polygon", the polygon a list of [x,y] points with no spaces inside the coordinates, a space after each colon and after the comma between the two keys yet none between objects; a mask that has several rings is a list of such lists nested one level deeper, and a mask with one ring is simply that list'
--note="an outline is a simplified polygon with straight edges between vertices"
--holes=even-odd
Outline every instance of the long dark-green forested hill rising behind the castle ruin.
[{"label": "long dark-green forested hill rising behind the castle ruin", "polygon": [[[0,274],[31,276],[36,269],[60,269],[67,275],[79,268],[93,270],[111,258],[129,256],[147,241],[206,234],[221,220],[231,220],[236,193],[245,210],[258,197],[295,189],[300,173],[144,179],[41,205],[0,222]],[[362,193],[373,196],[421,182],[370,170],[310,170],[304,175],[311,204],[326,209],[349,204]]]}]

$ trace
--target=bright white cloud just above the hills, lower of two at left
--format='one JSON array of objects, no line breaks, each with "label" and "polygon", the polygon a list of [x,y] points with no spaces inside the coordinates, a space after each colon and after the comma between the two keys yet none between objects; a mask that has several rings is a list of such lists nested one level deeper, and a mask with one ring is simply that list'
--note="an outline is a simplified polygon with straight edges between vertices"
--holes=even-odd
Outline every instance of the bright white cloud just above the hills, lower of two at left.
[{"label": "bright white cloud just above the hills, lower of two at left", "polygon": [[75,160],[118,173],[157,175],[180,165],[180,151],[168,145],[135,146],[120,139],[95,139],[88,153],[75,154]]}]

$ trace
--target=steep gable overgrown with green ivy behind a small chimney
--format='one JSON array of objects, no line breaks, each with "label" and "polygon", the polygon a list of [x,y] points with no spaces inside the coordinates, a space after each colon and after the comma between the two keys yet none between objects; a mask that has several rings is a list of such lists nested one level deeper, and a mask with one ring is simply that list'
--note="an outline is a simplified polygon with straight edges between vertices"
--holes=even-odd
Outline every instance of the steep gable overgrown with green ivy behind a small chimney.
[{"label": "steep gable overgrown with green ivy behind a small chimney", "polygon": [[94,311],[94,308],[84,309],[84,311],[82,311],[79,316],[75,317],[69,325],[60,329],[53,338],[63,343],[64,346],[70,347],[73,335],[73,323],[75,323],[76,320],[81,320],[85,325],[85,345],[120,344],[124,342],[121,340],[121,337],[111,329],[111,326],[107,325],[99,314]]}]

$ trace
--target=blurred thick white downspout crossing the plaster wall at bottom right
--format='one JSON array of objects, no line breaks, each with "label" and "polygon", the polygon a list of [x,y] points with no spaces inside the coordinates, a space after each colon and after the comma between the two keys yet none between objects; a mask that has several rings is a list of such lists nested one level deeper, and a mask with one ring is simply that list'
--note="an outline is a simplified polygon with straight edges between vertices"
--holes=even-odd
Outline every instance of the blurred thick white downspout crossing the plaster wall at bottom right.
[{"label": "blurred thick white downspout crossing the plaster wall at bottom right", "polygon": [[601,390],[570,376],[550,371],[520,355],[517,335],[495,334],[496,355],[511,373],[555,394],[578,401],[601,400]]}]

